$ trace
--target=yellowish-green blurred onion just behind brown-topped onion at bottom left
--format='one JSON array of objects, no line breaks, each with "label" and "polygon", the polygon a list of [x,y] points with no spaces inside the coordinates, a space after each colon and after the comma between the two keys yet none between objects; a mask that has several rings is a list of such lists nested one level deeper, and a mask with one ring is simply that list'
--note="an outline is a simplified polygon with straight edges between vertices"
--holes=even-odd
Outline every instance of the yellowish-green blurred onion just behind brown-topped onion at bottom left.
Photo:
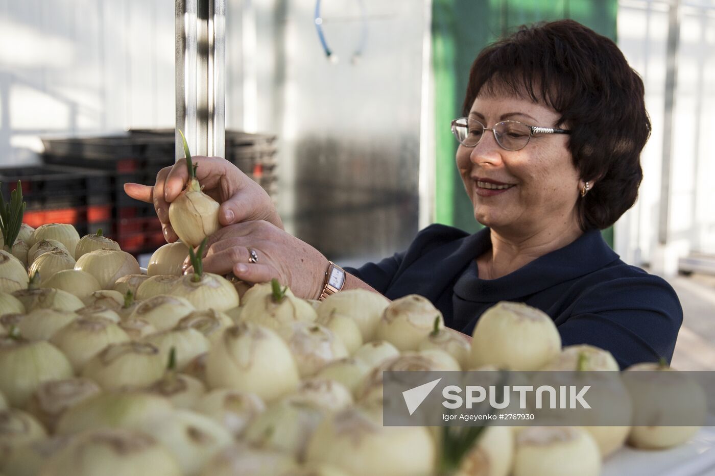
[{"label": "yellowish-green blurred onion just behind brown-topped onion at bottom left", "polygon": [[67,435],[101,427],[140,430],[147,422],[171,417],[173,412],[172,402],[152,393],[100,393],[64,412],[57,422],[56,433]]}]

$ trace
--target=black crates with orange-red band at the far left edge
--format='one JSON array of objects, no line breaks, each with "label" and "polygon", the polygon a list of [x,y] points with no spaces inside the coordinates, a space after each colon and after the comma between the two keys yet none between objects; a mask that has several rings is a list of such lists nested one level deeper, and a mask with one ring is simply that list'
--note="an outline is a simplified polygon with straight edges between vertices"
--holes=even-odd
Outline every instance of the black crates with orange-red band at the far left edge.
[{"label": "black crates with orange-red band at the far left edge", "polygon": [[22,184],[27,207],[23,222],[31,227],[69,223],[80,236],[112,230],[112,194],[106,172],[62,166],[8,167],[0,169],[4,199]]}]

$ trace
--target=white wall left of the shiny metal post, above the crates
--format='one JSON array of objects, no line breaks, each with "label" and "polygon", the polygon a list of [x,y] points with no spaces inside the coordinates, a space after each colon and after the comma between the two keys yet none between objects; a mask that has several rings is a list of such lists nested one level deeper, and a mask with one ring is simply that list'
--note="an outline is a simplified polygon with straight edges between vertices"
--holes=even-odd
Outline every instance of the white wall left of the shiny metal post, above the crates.
[{"label": "white wall left of the shiny metal post, above the crates", "polygon": [[0,0],[0,166],[40,136],[173,125],[173,0]]}]

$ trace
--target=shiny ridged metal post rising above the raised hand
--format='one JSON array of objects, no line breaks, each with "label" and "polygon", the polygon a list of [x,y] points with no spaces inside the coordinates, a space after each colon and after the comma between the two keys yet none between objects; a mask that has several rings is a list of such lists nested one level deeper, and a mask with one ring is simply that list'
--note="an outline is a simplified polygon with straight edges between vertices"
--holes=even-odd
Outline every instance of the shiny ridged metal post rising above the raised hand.
[{"label": "shiny ridged metal post rising above the raised hand", "polygon": [[226,1],[175,2],[176,128],[192,154],[225,157]]}]

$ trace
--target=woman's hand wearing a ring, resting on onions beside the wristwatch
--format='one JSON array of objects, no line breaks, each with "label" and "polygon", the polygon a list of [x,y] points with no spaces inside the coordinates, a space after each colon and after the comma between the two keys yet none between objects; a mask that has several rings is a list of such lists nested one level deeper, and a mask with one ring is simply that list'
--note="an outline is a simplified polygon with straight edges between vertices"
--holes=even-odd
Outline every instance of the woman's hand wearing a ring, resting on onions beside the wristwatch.
[{"label": "woman's hand wearing a ring, resting on onions beside the wristwatch", "polygon": [[[264,221],[242,222],[219,229],[206,244],[204,272],[233,273],[249,283],[275,278],[297,297],[317,299],[329,262],[317,249]],[[249,261],[252,249],[257,262]],[[187,272],[192,270],[187,268]]]}]

